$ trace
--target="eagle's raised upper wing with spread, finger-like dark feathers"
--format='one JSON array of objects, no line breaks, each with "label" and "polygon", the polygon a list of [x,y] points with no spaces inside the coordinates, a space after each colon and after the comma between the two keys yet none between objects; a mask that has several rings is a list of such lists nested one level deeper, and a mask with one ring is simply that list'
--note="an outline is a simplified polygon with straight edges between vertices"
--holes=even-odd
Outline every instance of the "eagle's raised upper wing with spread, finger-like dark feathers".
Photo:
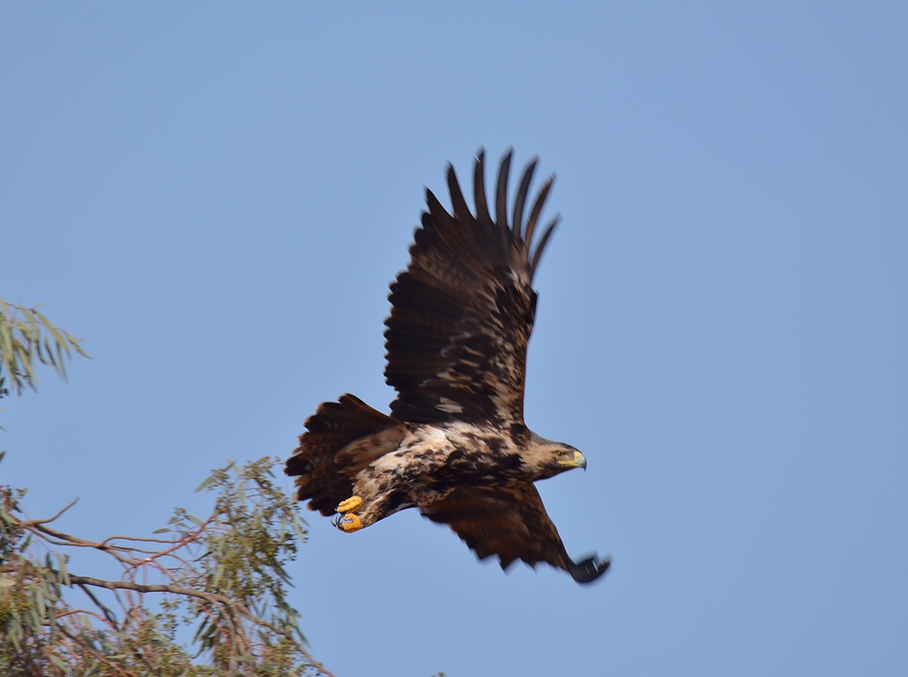
[{"label": "eagle's raised upper wing with spread, finger-like dark feathers", "polygon": [[450,165],[453,214],[426,191],[429,211],[410,247],[410,265],[390,287],[385,321],[385,377],[398,391],[391,415],[399,420],[523,423],[527,344],[536,313],[531,284],[557,219],[534,249],[533,233],[553,178],[543,184],[524,224],[533,161],[508,225],[510,160],[508,152],[498,171],[494,219],[482,151],[474,172],[475,215]]}]

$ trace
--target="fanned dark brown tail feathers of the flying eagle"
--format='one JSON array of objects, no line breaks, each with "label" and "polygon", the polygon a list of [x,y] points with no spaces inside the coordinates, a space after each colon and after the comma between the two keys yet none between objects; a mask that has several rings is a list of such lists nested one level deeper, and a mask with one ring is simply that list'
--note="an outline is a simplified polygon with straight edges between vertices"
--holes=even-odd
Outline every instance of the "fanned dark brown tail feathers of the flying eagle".
[{"label": "fanned dark brown tail feathers of the flying eagle", "polygon": [[356,473],[390,449],[382,444],[383,439],[376,439],[374,445],[358,446],[356,453],[341,451],[356,440],[396,430],[400,425],[400,421],[350,394],[342,395],[337,402],[322,402],[306,419],[300,446],[285,467],[287,475],[298,476],[297,500],[308,500],[310,510],[333,515],[338,504],[350,498]]}]

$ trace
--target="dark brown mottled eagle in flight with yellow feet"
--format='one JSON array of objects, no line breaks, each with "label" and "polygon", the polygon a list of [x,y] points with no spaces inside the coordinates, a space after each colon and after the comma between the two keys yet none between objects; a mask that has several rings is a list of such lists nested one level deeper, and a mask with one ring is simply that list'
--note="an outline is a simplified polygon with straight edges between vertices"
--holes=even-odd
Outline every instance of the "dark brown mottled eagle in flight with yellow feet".
[{"label": "dark brown mottled eagle in flight with yellow feet", "polygon": [[410,264],[390,285],[385,378],[397,390],[390,415],[359,397],[324,402],[287,461],[296,497],[345,533],[416,507],[449,525],[479,559],[502,569],[545,562],[577,583],[605,574],[610,559],[573,561],[542,505],[537,480],[587,467],[573,446],[531,431],[523,418],[527,345],[536,315],[533,275],[558,223],[533,240],[550,176],[524,221],[537,160],[518,184],[508,225],[508,172],[501,160],[495,216],[484,152],[473,172],[474,214],[448,165],[452,210],[426,189],[428,211]]}]

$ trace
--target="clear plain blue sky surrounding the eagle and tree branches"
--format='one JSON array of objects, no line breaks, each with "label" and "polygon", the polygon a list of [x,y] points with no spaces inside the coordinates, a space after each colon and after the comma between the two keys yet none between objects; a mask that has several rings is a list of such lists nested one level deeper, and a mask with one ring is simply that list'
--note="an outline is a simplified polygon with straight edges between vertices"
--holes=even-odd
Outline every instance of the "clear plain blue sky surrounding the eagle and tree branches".
[{"label": "clear plain blue sky surrounding the eagle and tree branches", "polygon": [[906,7],[4,3],[0,295],[92,359],[4,399],[0,481],[142,535],[203,512],[227,456],[288,456],[322,400],[387,410],[423,187],[447,204],[446,162],[513,146],[563,216],[528,424],[589,463],[540,490],[612,570],[503,574],[413,511],[308,514],[313,653],[342,677],[908,673]]}]

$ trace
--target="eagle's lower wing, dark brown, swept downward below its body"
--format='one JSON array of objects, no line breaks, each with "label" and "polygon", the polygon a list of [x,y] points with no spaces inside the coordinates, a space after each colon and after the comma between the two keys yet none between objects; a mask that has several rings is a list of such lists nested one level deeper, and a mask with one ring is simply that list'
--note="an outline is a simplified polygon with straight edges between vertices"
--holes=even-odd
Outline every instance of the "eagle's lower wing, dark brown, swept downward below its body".
[{"label": "eagle's lower wing, dark brown, swept downward below its body", "polygon": [[595,555],[572,561],[536,486],[528,482],[460,487],[419,510],[433,522],[450,525],[479,559],[498,555],[502,569],[517,559],[531,566],[548,562],[567,571],[577,583],[591,583],[611,564]]}]

